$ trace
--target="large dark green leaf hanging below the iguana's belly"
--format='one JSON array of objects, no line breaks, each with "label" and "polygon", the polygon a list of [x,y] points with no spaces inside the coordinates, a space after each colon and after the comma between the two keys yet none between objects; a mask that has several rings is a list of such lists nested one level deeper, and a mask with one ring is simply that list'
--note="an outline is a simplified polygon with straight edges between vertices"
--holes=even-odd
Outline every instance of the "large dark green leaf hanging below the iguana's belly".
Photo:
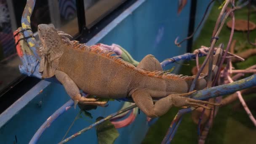
[{"label": "large dark green leaf hanging below the iguana's belly", "polygon": [[[96,121],[102,120],[104,117],[98,117]],[[96,133],[98,138],[98,144],[113,144],[119,136],[119,133],[115,126],[106,120],[103,123],[96,125]]]}]

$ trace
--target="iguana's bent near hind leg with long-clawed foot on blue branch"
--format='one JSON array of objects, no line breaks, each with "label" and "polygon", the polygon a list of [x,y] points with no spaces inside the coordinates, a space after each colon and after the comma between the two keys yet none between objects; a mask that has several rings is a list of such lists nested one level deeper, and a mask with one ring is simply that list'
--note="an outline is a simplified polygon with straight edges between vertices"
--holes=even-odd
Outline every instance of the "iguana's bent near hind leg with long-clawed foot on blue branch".
[{"label": "iguana's bent near hind leg with long-clawed foot on blue branch", "polygon": [[164,115],[173,106],[203,107],[205,109],[210,109],[204,104],[220,105],[208,101],[201,101],[184,97],[194,92],[195,91],[182,94],[171,94],[156,101],[155,104],[153,103],[152,97],[150,96],[149,92],[145,89],[134,91],[131,97],[136,105],[139,107],[139,109],[141,109],[148,117],[152,118]]}]

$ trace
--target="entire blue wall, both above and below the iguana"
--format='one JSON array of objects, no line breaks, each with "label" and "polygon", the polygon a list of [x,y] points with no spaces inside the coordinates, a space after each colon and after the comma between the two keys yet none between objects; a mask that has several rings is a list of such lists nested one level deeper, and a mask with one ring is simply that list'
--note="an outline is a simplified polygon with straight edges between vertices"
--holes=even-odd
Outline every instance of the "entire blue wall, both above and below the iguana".
[{"label": "entire blue wall, both above and below the iguana", "polygon": [[[208,3],[208,1],[199,1],[202,7]],[[153,54],[159,61],[163,61],[166,58],[185,53],[186,42],[182,44],[181,48],[178,48],[174,45],[174,40],[177,36],[180,37],[179,40],[187,37],[190,0],[179,16],[177,9],[178,0],[146,0],[99,42],[121,45],[138,61],[147,54]],[[201,11],[201,9],[199,8],[197,11]],[[62,85],[51,83],[43,90],[43,93],[36,96],[0,128],[0,143],[11,144],[15,141],[15,136],[19,144],[28,143],[40,125],[69,99]],[[40,101],[43,104],[38,106]],[[107,108],[98,107],[96,110],[91,110],[93,120],[78,119],[68,136],[95,122],[97,117],[106,117],[116,112],[122,105],[123,102],[110,101]],[[79,109],[71,108],[61,115],[43,133],[38,143],[59,142],[78,112]],[[131,125],[118,129],[120,136],[115,143],[140,143],[147,133],[147,129],[146,116],[141,112]],[[81,143],[82,141],[96,144],[95,129],[83,133],[70,143]]]}]

